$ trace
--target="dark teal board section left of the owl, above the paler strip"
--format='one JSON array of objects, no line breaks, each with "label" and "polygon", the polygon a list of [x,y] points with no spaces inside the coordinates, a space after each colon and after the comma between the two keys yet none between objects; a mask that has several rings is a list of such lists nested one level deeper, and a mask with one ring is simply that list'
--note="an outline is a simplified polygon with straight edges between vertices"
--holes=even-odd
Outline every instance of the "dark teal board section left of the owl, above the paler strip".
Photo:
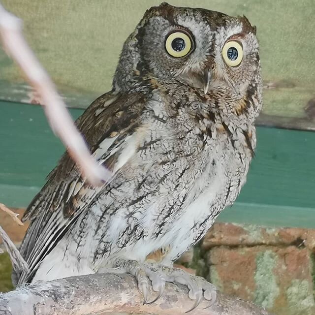
[{"label": "dark teal board section left of the owl, above the paler strip", "polygon": [[[71,109],[74,118],[83,110]],[[0,184],[40,187],[64,151],[38,105],[0,102]]]}]

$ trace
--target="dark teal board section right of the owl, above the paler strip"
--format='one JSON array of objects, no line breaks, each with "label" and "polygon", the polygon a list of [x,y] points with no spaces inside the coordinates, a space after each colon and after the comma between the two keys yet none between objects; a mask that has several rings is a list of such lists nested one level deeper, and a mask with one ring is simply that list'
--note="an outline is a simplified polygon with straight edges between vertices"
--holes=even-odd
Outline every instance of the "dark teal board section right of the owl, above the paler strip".
[{"label": "dark teal board section right of the owl, above the paler strip", "polygon": [[240,202],[315,208],[315,132],[257,127]]}]

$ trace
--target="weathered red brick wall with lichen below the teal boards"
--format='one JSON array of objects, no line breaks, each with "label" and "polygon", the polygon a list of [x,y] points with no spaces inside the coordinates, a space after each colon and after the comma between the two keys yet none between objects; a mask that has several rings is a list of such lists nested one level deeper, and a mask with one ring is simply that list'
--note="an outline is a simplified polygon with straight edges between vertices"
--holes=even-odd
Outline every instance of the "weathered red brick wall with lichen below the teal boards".
[{"label": "weathered red brick wall with lichen below the teal boards", "polygon": [[[25,227],[1,212],[0,222],[21,242]],[[216,223],[178,263],[275,315],[314,315],[314,258],[315,230]],[[0,255],[0,291],[10,288],[8,266],[7,256]]]}]

